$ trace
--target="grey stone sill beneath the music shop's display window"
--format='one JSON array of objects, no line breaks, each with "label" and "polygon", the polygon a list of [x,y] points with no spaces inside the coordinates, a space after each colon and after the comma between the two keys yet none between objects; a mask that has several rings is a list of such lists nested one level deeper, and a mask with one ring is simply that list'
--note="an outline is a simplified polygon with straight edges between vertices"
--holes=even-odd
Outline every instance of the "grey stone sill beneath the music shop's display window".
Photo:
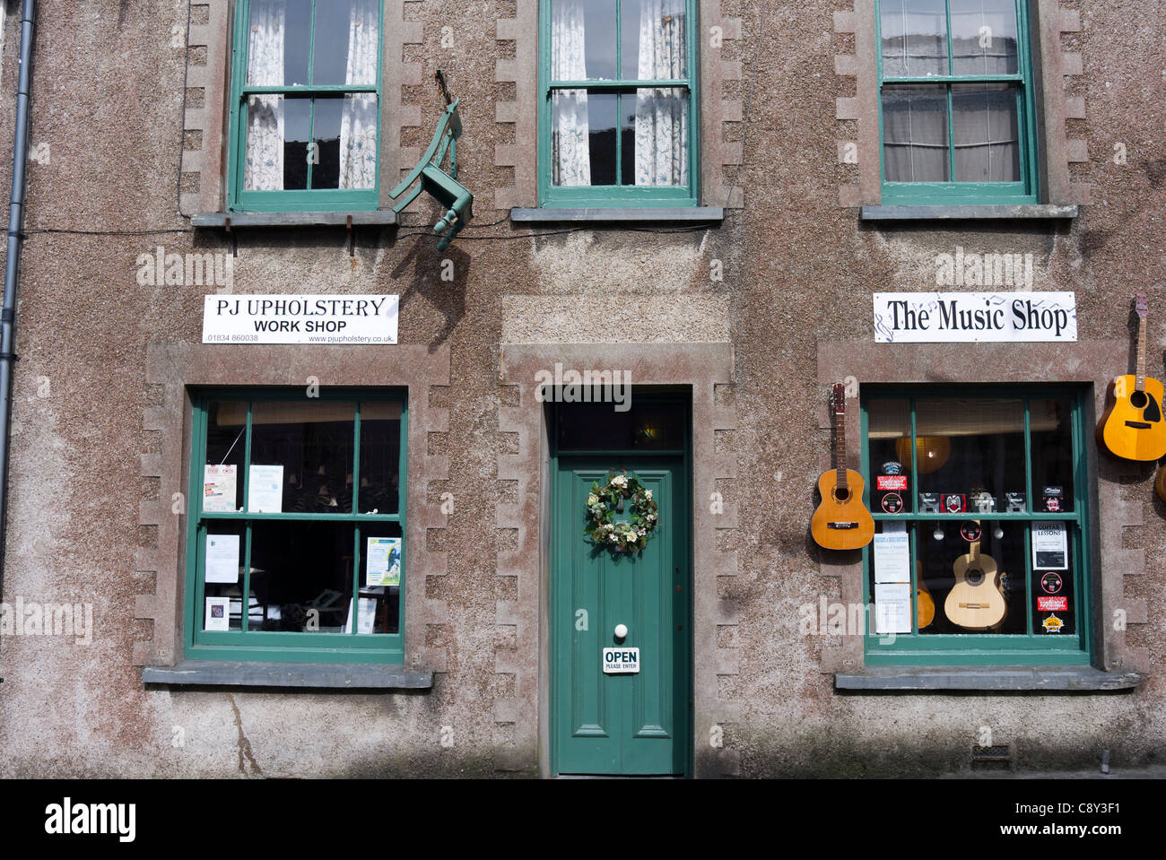
[{"label": "grey stone sill beneath the music shop's display window", "polygon": [[836,690],[865,692],[996,690],[1016,692],[1119,692],[1145,677],[1138,672],[1107,672],[1093,667],[870,667],[834,676]]}]

